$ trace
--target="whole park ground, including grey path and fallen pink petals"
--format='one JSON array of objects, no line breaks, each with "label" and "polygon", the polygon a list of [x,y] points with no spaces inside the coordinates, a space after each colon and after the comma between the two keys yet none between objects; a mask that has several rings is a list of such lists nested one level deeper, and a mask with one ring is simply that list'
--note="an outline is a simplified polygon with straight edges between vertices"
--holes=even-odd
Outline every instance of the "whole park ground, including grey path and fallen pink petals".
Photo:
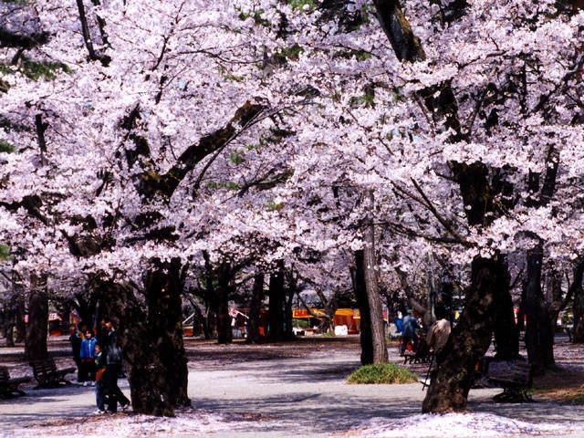
[{"label": "whole park ground, including grey path and fallen pink petals", "polygon": [[[473,389],[469,412],[422,415],[422,384],[349,385],[360,365],[358,337],[291,343],[217,345],[185,339],[193,407],[175,418],[119,412],[95,415],[93,389],[23,387],[0,400],[1,437],[584,437],[584,346],[558,336],[558,370],[537,378],[532,403],[495,403],[498,389]],[[0,345],[1,340],[0,340]],[[50,339],[61,367],[71,366],[67,339]],[[397,346],[390,360],[401,362]],[[0,348],[13,377],[30,375],[22,347]],[[427,365],[408,365],[421,377]],[[75,380],[75,376],[70,376]],[[120,387],[129,394],[128,382]],[[412,434],[413,433],[413,434]]]}]

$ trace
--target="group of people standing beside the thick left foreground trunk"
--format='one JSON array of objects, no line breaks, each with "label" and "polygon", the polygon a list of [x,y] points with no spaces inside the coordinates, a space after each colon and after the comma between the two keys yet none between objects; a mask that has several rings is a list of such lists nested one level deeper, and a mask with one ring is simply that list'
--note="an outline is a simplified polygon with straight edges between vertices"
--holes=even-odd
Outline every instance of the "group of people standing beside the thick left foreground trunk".
[{"label": "group of people standing beside the thick left foreground trunk", "polygon": [[122,370],[121,349],[118,334],[110,318],[101,319],[99,339],[87,324],[78,323],[77,330],[69,337],[73,359],[78,368],[78,382],[83,386],[95,386],[95,413],[118,412],[130,406],[130,400],[118,386]]}]

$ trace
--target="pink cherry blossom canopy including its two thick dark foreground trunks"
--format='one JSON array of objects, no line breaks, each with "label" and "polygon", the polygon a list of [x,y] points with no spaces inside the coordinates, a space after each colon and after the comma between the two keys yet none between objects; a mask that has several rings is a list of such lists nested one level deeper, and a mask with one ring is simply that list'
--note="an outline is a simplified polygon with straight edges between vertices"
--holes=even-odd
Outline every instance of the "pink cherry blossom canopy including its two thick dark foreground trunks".
[{"label": "pink cherry blossom canopy including its two thick dark foreground trunks", "polygon": [[508,319],[485,307],[505,256],[582,253],[584,18],[555,1],[0,5],[0,243],[22,278],[96,285],[137,412],[188,402],[178,297],[204,254],[363,251],[370,298],[416,256],[466,267],[443,412]]}]

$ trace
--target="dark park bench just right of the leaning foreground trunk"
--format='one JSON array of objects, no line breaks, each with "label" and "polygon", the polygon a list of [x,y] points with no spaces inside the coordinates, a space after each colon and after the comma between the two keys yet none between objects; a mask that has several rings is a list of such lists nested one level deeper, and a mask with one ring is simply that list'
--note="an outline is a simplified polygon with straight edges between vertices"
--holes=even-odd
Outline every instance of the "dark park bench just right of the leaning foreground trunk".
[{"label": "dark park bench just right of the leaning foreground trunk", "polygon": [[503,392],[493,400],[506,402],[532,401],[527,391],[533,383],[533,367],[527,360],[496,360],[485,358],[483,370],[486,381]]}]

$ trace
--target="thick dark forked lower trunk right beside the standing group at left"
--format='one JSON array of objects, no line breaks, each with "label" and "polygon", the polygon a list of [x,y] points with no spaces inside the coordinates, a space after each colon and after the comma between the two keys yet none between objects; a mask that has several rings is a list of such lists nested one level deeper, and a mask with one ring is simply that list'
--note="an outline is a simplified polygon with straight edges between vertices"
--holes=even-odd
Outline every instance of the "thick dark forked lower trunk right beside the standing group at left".
[{"label": "thick dark forked lower trunk right beside the standing group at left", "polygon": [[183,279],[178,259],[151,260],[146,274],[148,313],[129,287],[108,284],[104,304],[117,323],[133,412],[174,416],[174,407],[188,406],[188,368],[183,345]]}]

